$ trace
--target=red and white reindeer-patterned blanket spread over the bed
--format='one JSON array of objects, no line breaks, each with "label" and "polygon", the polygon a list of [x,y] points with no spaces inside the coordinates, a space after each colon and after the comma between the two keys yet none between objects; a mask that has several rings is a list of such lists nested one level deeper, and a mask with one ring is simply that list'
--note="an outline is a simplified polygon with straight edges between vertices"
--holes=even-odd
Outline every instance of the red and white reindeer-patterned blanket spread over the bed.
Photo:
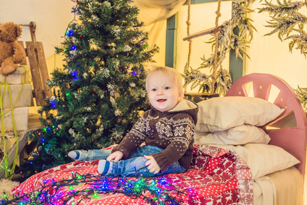
[{"label": "red and white reindeer-patterned blanket spread over the bed", "polygon": [[[157,178],[127,179],[134,183],[134,189],[141,186],[138,183],[142,181],[147,184],[147,187],[149,186],[151,187],[150,189],[155,190],[156,194],[161,193],[163,197],[157,197],[150,189],[142,191],[142,187],[139,187],[139,195],[127,194],[127,187],[131,187],[131,184],[125,184],[124,186],[126,187],[119,187],[114,185],[114,181],[109,181],[108,186],[111,186],[116,191],[108,193],[107,189],[110,187],[106,188],[103,185],[103,181],[108,180],[108,178],[103,178],[98,174],[97,165],[98,161],[81,161],[47,169],[44,172],[31,176],[11,192],[19,196],[19,202],[24,202],[24,204],[31,200],[39,200],[39,197],[44,197],[41,200],[47,201],[48,203],[46,204],[80,205],[209,205],[253,204],[254,202],[250,168],[235,152],[223,150],[222,148],[194,145],[192,166],[187,172],[182,174],[168,174]],[[71,182],[75,180],[74,178],[77,178],[76,176],[79,176],[81,180],[72,186]],[[86,176],[90,177],[86,178]],[[90,178],[95,177],[99,179],[98,185],[90,181]],[[70,184],[66,183],[63,186],[60,186],[59,183],[57,184],[57,182],[63,180],[69,180]],[[117,180],[116,182],[119,181]],[[148,185],[149,182],[151,184]],[[49,186],[49,189],[42,189],[46,185]],[[56,188],[50,189],[50,187]],[[93,187],[95,190],[99,187],[99,189],[105,189],[105,191],[92,193]]]}]

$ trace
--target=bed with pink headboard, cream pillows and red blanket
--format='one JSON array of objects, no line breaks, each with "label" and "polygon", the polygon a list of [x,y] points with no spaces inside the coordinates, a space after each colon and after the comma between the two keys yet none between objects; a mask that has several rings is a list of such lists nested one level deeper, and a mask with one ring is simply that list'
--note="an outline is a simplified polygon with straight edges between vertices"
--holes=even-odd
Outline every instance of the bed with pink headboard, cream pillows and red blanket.
[{"label": "bed with pink headboard, cream pillows and red blanket", "polygon": [[1,203],[302,204],[307,120],[289,85],[248,74],[226,97],[198,105],[185,173],[107,178],[98,174],[98,161],[72,162],[31,176],[12,189],[13,202]]}]

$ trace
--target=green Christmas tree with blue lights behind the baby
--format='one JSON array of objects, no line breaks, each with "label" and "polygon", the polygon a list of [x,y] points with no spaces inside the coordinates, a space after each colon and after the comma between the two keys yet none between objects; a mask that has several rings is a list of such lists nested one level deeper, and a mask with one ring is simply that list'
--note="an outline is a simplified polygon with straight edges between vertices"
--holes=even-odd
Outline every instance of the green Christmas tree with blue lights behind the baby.
[{"label": "green Christmas tree with blue lights behind the baby", "polygon": [[[65,57],[46,82],[53,89],[38,112],[42,131],[21,167],[25,176],[71,162],[70,150],[101,149],[121,141],[148,109],[144,63],[158,51],[148,48],[148,33],[129,0],[77,0],[65,41]],[[25,170],[27,172],[25,172]]]}]

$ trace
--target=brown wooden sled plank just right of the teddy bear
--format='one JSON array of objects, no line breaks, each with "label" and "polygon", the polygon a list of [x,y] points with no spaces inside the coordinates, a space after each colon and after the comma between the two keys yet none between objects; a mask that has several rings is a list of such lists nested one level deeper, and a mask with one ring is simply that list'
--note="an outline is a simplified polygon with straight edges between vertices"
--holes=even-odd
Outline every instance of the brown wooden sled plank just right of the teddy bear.
[{"label": "brown wooden sled plank just right of the teddy bear", "polygon": [[38,61],[35,55],[35,48],[33,42],[25,42],[27,53],[29,57],[29,65],[31,70],[31,77],[34,86],[34,93],[36,98],[36,105],[45,105],[44,96],[42,94],[42,80],[40,79],[40,71],[38,70]]}]

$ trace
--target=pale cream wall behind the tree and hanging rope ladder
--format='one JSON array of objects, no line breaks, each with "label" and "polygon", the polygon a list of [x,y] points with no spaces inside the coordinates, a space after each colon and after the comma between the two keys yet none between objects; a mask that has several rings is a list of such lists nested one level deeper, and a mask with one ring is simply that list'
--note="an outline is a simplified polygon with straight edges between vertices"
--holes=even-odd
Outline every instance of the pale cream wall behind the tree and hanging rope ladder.
[{"label": "pale cream wall behind the tree and hanging rope ladder", "polygon": [[[71,8],[74,3],[70,0],[0,0],[0,23],[12,21],[18,24],[29,24],[31,21],[36,22],[36,38],[42,41],[44,52],[47,60],[49,72],[55,66],[62,65],[62,58],[54,54],[54,47],[59,46],[63,41],[66,27],[73,18]],[[252,9],[261,7],[261,3],[255,2]],[[190,33],[197,33],[215,27],[215,11],[217,3],[202,3],[191,5],[191,27]],[[187,55],[189,51],[189,43],[183,41],[187,36],[187,5],[183,5],[178,13],[178,38],[177,38],[177,69],[183,72],[183,68],[187,63]],[[231,16],[231,1],[222,1],[222,16],[219,18],[219,25]],[[248,54],[251,59],[246,59],[245,74],[252,72],[264,72],[275,74],[284,79],[293,88],[307,87],[307,64],[304,55],[297,50],[293,53],[289,52],[288,42],[281,42],[276,34],[273,36],[264,36],[270,31],[264,27],[266,20],[269,20],[268,14],[258,14],[257,11],[250,15],[254,20],[253,25],[258,32],[254,33],[254,40],[250,44]],[[150,26],[146,27],[150,31]],[[156,42],[160,48],[160,53],[156,54],[154,59],[157,64],[165,64],[165,29],[166,23],[161,27],[158,41]],[[198,68],[202,63],[201,57],[209,57],[213,51],[211,44],[206,44],[211,35],[194,38],[192,42],[191,63],[192,68]],[[29,36],[29,28],[23,27],[23,36],[21,40],[31,40]],[[224,60],[223,68],[228,70],[228,57]],[[208,69],[202,69],[209,73]],[[196,90],[193,90],[193,92]]]}]

